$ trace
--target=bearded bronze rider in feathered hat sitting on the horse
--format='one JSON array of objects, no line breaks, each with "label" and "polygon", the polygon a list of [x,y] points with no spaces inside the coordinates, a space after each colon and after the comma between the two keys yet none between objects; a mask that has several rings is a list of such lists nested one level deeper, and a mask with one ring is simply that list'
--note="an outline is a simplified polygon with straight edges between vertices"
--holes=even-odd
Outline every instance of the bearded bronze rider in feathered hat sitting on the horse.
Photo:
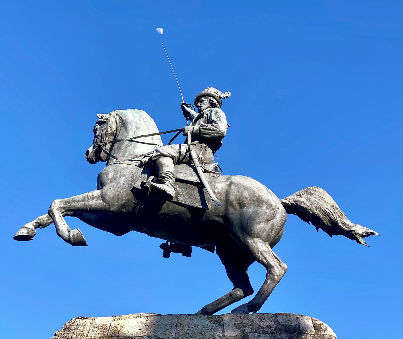
[{"label": "bearded bronze rider in feathered hat sitting on the horse", "polygon": [[[196,95],[194,103],[199,114],[191,110],[185,103],[181,108],[185,118],[191,120],[189,126],[183,127],[183,135],[191,133],[191,147],[198,155],[200,163],[214,163],[214,153],[222,146],[222,138],[229,125],[224,112],[220,110],[221,99],[228,98],[230,92],[221,93],[214,87],[208,87]],[[187,138],[183,145],[166,145],[154,150],[154,161],[158,174],[158,183],[152,182],[152,188],[160,192],[167,200],[175,194],[174,165],[191,162],[187,152]]]}]

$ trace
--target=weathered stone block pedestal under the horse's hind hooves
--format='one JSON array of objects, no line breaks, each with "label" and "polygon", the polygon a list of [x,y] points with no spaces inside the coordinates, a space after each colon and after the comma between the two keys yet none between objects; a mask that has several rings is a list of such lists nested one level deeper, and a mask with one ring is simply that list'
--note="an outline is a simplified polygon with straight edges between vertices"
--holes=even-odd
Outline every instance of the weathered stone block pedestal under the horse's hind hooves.
[{"label": "weathered stone block pedestal under the horse's hind hooves", "polygon": [[336,339],[325,323],[300,314],[139,313],[66,322],[52,339]]}]

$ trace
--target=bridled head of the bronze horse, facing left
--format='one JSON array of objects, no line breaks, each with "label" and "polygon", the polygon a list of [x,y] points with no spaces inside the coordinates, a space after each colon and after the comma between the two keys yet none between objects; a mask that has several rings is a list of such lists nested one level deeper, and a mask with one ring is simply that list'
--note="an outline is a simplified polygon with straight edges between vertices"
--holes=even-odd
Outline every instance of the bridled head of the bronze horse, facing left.
[{"label": "bridled head of the bronze horse, facing left", "polygon": [[114,112],[108,114],[98,114],[98,120],[94,126],[94,140],[92,145],[85,151],[85,158],[92,165],[98,161],[105,162],[108,160],[108,154],[102,152],[103,149],[109,152],[112,147],[112,141],[115,137],[115,130],[112,128],[114,124],[112,116]]}]

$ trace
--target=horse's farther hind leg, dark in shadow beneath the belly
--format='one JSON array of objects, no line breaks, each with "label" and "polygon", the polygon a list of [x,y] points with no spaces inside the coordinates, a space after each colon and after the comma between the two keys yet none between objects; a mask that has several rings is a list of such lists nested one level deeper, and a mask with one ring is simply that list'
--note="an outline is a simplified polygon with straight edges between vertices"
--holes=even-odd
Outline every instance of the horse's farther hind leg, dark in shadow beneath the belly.
[{"label": "horse's farther hind leg, dark in shadow beneath the belly", "polygon": [[214,314],[219,310],[253,294],[247,269],[255,261],[243,248],[226,248],[217,246],[217,255],[220,257],[225,271],[234,285],[231,292],[216,301],[204,306],[196,314]]}]

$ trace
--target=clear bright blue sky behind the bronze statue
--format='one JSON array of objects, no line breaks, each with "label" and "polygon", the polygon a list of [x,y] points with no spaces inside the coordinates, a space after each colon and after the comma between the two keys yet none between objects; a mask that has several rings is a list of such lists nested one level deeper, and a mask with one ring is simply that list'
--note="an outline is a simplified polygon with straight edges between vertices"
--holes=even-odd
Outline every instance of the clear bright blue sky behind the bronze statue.
[{"label": "clear bright blue sky behind the bronze statue", "polygon": [[[160,130],[185,124],[156,27],[185,101],[208,86],[232,93],[224,174],[279,198],[320,186],[381,234],[367,248],[289,216],[274,248],[289,270],[260,312],[313,316],[341,339],[399,337],[402,15],[385,0],[2,1],[0,337],[50,338],[76,316],[194,313],[231,290],[216,254],[165,259],[161,240],[74,218],[86,248],[53,225],[12,240],[52,200],[96,188],[104,163],[84,158],[96,114],[137,108]],[[257,291],[264,269],[249,274]]]}]

